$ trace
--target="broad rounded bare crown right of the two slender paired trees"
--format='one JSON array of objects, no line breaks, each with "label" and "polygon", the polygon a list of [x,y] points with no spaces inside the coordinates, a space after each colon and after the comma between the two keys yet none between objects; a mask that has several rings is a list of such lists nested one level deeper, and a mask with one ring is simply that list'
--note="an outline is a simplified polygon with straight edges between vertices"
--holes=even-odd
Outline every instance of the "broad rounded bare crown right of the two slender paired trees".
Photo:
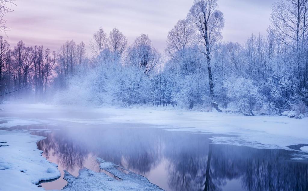
[{"label": "broad rounded bare crown right of the two slender paired trees", "polygon": [[128,49],[129,61],[143,69],[144,73],[150,73],[159,64],[160,57],[160,53],[152,46],[151,39],[145,34],[137,37]]}]

